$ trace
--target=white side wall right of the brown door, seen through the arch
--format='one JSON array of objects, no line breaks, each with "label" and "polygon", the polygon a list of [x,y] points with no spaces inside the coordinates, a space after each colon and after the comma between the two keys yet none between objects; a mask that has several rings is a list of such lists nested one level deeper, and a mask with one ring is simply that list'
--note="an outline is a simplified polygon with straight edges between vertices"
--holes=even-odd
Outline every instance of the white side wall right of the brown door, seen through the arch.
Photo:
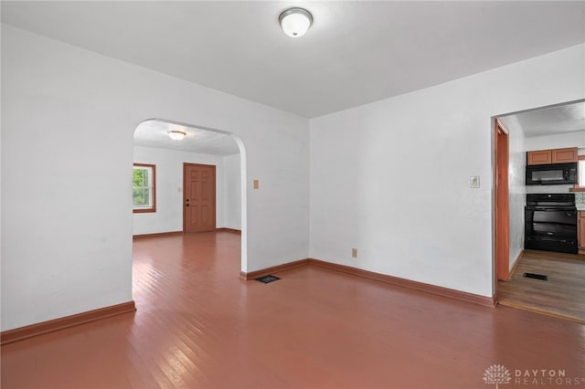
[{"label": "white side wall right of the brown door, seen through the arch", "polygon": [[241,229],[241,191],[239,182],[240,163],[239,154],[228,155],[223,159],[224,165],[224,224],[232,229]]}]

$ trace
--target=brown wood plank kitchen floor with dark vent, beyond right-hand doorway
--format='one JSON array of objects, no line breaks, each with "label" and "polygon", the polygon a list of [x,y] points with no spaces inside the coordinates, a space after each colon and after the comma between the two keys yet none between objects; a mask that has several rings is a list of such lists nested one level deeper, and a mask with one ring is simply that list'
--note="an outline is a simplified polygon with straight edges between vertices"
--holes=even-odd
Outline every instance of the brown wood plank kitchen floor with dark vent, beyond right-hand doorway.
[{"label": "brown wood plank kitchen floor with dark vent, beyond right-hand doorway", "polygon": [[[510,281],[498,281],[498,303],[585,323],[585,256],[526,250]],[[547,281],[527,279],[536,273]]]}]

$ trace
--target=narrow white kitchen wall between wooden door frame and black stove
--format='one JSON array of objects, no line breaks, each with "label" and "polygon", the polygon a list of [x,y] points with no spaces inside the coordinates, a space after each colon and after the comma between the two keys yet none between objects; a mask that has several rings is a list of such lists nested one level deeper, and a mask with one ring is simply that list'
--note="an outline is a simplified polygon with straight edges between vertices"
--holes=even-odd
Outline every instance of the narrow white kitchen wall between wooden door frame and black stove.
[{"label": "narrow white kitchen wall between wooden door frame and black stove", "polygon": [[527,148],[526,134],[515,116],[501,119],[508,131],[508,191],[510,215],[510,269],[524,250],[524,207],[527,205]]}]

